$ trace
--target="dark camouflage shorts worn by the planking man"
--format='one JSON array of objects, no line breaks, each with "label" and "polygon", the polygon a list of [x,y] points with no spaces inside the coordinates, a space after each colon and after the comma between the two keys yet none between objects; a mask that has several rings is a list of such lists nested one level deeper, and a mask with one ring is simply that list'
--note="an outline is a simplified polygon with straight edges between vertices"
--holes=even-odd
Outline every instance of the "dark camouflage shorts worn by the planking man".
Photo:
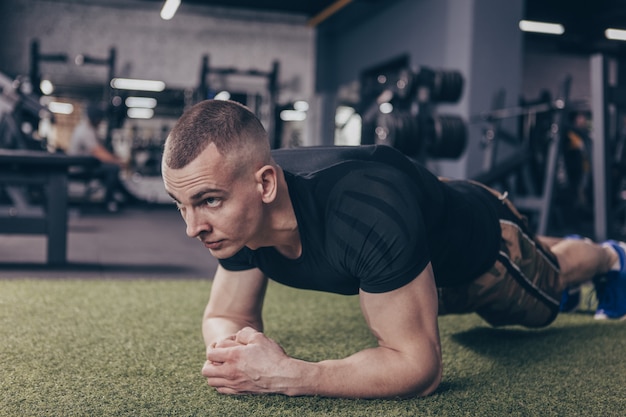
[{"label": "dark camouflage shorts worn by the planking man", "polygon": [[493,326],[542,327],[559,312],[559,266],[528,231],[526,219],[496,191],[508,212],[495,264],[468,285],[439,288],[439,314],[478,313]]}]

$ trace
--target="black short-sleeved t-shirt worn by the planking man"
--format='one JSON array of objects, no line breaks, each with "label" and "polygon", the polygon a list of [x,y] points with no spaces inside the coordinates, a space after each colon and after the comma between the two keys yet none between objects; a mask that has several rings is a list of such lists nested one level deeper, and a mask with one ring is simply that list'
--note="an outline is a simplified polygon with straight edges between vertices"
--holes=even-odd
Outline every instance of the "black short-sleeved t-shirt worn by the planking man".
[{"label": "black short-sleeved t-shirt worn by the planking man", "polygon": [[[285,285],[339,294],[400,288],[429,262],[438,286],[468,282],[493,264],[500,244],[497,199],[470,183],[441,182],[392,148],[363,148],[356,155],[332,148],[312,148],[308,157],[299,150],[293,159],[282,154],[285,163],[277,161],[298,221],[301,256],[243,248],[220,264],[256,267]],[[317,158],[319,152],[331,157]]]}]

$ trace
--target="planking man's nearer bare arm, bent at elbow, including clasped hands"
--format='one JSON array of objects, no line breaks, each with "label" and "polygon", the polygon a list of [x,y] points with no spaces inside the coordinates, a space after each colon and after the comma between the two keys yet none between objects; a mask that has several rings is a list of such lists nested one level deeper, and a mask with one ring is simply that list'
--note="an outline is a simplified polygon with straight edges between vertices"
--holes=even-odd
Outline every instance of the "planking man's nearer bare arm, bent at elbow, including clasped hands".
[{"label": "planking man's nearer bare arm, bent at elbow, including clasped hands", "polygon": [[253,329],[208,349],[203,369],[219,392],[329,397],[423,396],[441,380],[437,290],[430,265],[409,284],[361,292],[361,308],[378,346],[317,363],[290,358]]}]

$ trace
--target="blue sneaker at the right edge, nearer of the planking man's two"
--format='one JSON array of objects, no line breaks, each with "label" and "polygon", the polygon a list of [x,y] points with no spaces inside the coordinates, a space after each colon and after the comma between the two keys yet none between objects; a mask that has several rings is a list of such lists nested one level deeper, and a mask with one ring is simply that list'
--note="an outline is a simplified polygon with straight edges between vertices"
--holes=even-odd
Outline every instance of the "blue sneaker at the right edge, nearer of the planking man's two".
[{"label": "blue sneaker at the right edge, nearer of the planking man's two", "polygon": [[597,320],[626,318],[626,253],[614,240],[605,242],[611,245],[619,256],[619,271],[609,271],[602,290],[598,291],[598,309],[594,316]]}]

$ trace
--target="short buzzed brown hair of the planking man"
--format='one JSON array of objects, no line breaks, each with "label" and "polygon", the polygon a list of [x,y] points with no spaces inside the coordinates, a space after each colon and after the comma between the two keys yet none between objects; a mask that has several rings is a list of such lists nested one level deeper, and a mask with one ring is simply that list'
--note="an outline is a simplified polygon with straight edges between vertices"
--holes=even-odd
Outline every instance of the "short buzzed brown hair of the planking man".
[{"label": "short buzzed brown hair of the planking man", "polygon": [[235,101],[205,100],[176,122],[165,141],[163,160],[172,169],[183,168],[210,143],[225,156],[248,151],[264,163],[270,159],[267,132],[254,113]]}]

